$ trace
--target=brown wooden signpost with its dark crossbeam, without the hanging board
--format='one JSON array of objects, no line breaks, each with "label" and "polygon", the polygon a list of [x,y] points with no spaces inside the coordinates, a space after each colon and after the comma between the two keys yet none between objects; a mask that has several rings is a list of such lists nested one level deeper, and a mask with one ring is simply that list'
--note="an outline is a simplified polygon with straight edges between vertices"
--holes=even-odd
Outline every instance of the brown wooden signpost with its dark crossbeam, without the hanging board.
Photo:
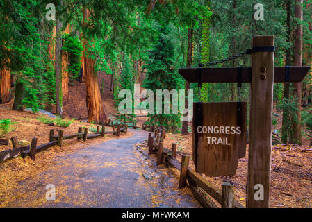
[{"label": "brown wooden signpost with its dark crossbeam, without the hanging board", "polygon": [[274,67],[274,51],[273,35],[254,36],[252,67],[179,69],[189,83],[251,83],[247,207],[270,207],[273,85],[302,82],[310,69]]}]

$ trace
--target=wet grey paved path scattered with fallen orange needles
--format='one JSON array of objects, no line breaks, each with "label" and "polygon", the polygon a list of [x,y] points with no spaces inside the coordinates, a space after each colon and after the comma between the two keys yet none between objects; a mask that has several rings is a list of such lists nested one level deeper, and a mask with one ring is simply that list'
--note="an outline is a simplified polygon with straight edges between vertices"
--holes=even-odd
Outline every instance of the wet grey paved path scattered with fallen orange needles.
[{"label": "wet grey paved path scattered with fallen orange needles", "polygon": [[[10,207],[200,207],[188,188],[176,189],[171,169],[156,167],[156,157],[135,146],[148,133],[131,133],[56,158],[52,169],[20,182],[23,198]],[[56,200],[46,199],[49,184]]]}]

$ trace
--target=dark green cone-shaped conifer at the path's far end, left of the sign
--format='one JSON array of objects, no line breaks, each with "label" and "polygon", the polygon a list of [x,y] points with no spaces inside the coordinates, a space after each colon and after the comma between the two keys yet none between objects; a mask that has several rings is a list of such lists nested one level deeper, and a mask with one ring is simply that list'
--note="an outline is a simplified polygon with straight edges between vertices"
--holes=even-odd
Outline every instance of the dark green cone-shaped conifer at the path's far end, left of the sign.
[{"label": "dark green cone-shaped conifer at the path's far end, left of the sign", "polygon": [[[147,76],[143,87],[151,89],[154,92],[156,101],[156,89],[180,89],[183,81],[174,67],[174,45],[168,36],[171,28],[160,28],[158,42],[153,49],[149,51],[149,60],[146,62]],[[147,125],[163,126],[168,132],[178,132],[181,128],[180,114],[172,114],[172,103],[170,105],[170,114],[148,114]],[[156,102],[155,102],[156,105]]]}]

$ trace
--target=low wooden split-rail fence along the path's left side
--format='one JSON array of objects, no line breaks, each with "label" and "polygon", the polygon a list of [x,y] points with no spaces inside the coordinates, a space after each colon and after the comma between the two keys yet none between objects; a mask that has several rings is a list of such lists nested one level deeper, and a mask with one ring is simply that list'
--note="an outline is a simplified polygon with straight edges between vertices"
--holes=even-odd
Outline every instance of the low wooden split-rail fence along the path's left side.
[{"label": "low wooden split-rail fence along the path's left side", "polygon": [[[27,146],[19,146],[17,137],[12,137],[12,145],[13,149],[9,149],[6,151],[0,152],[0,162],[4,162],[5,160],[19,157],[25,158],[29,155],[31,157],[31,160],[35,160],[35,154],[44,150],[47,150],[47,148],[50,148],[51,146],[63,146],[63,141],[66,139],[74,139],[77,138],[78,140],[83,139],[83,141],[87,141],[87,139],[92,139],[95,137],[105,137],[106,134],[113,134],[117,137],[120,136],[120,133],[126,133],[128,130],[128,127],[126,125],[124,126],[117,126],[117,130],[113,128],[112,131],[106,131],[105,126],[102,126],[101,130],[100,127],[97,126],[97,132],[88,134],[88,128],[79,127],[78,133],[74,135],[64,135],[63,130],[58,130],[58,135],[54,135],[55,130],[50,130],[50,136],[49,136],[49,142],[47,144],[41,144],[37,146],[37,138],[31,139],[31,144]],[[4,140],[3,140],[4,141]],[[6,144],[8,144],[8,139],[6,139]]]}]

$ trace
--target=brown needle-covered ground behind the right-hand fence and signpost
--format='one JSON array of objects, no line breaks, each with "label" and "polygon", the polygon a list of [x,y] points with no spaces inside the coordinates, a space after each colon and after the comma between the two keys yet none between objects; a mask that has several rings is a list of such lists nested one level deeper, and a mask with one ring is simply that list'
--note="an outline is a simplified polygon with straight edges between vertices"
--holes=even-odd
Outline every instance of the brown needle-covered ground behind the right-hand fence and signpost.
[{"label": "brown needle-covered ground behind the right-hand fence and signpost", "polygon": [[[166,134],[165,148],[171,148],[172,143],[177,144],[180,151],[177,159],[181,161],[181,153],[190,155],[190,167],[195,169],[192,162],[192,133],[188,135]],[[306,146],[282,146],[276,145],[272,148],[271,163],[271,207],[312,207],[312,152],[302,152]],[[245,205],[248,172],[248,148],[246,157],[238,162],[236,175],[230,178],[235,186],[236,199]],[[221,189],[224,177],[209,178],[216,187]]]}]

